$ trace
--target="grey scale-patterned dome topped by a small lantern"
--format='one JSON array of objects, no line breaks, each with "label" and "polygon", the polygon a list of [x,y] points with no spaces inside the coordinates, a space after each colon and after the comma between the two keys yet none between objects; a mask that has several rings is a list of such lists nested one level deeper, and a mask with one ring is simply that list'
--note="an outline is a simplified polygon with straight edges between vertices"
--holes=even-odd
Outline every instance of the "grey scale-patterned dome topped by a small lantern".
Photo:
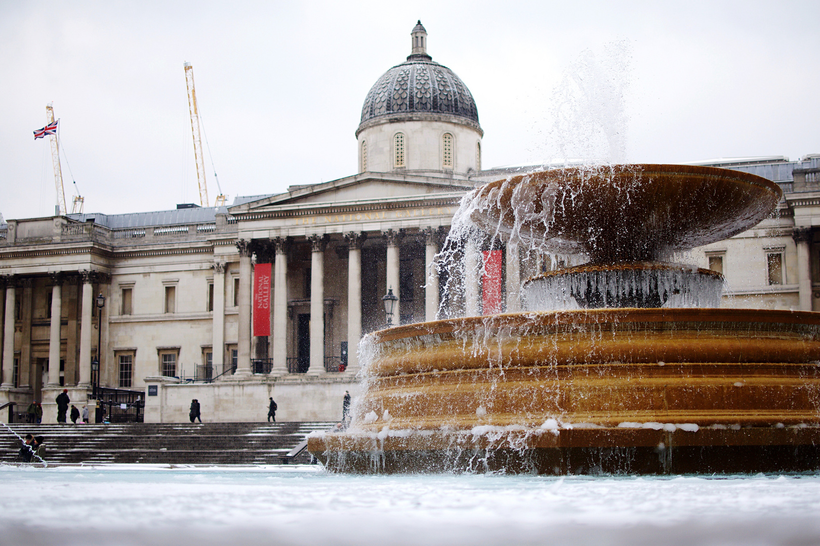
[{"label": "grey scale-patterned dome topped by a small lantern", "polygon": [[[464,82],[426,53],[426,31],[419,21],[408,60],[395,65],[376,81],[362,106],[362,125],[382,116],[439,114],[461,118],[480,129],[476,101]],[[418,40],[418,41],[416,41]]]}]

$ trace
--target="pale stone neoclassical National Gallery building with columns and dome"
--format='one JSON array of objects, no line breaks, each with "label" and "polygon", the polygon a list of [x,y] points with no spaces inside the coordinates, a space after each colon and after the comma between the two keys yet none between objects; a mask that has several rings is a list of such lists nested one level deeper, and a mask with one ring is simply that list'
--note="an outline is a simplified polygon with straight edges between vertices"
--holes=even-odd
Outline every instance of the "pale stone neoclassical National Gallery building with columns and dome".
[{"label": "pale stone neoclassical National Gallery building with columns and dome", "polygon": [[[112,419],[144,404],[146,421],[181,422],[195,398],[206,421],[229,422],[264,420],[273,397],[280,420],[335,420],[387,291],[394,323],[432,320],[442,301],[520,309],[522,281],[551,257],[488,240],[478,250],[499,267],[452,279],[459,296],[433,262],[466,192],[535,167],[481,169],[470,91],[428,55],[421,23],[411,37],[367,93],[358,174],[229,207],[0,224],[0,404],[42,400],[53,422],[65,388],[75,404],[105,400]],[[686,259],[724,273],[727,306],[820,309],[820,156],[700,165],[760,174],[786,196],[776,218]]]}]

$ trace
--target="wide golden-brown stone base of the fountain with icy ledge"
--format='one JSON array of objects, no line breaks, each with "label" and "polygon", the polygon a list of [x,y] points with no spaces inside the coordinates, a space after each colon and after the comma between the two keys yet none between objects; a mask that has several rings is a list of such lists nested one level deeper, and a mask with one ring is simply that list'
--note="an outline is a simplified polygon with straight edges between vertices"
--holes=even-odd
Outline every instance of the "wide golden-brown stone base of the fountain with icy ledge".
[{"label": "wide golden-brown stone base of the fountain with icy ledge", "polygon": [[353,424],[309,440],[337,470],[820,469],[820,314],[505,314],[370,341]]}]

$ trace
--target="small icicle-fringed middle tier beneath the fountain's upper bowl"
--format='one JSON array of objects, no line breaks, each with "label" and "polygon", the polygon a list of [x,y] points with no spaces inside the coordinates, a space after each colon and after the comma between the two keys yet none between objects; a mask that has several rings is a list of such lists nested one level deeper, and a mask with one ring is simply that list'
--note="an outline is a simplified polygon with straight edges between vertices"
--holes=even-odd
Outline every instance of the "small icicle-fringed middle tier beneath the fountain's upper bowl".
[{"label": "small icicle-fringed middle tier beneath the fountain's upper bowl", "polygon": [[717,307],[723,276],[660,262],[584,264],[541,273],[522,287],[530,311],[616,307]]}]

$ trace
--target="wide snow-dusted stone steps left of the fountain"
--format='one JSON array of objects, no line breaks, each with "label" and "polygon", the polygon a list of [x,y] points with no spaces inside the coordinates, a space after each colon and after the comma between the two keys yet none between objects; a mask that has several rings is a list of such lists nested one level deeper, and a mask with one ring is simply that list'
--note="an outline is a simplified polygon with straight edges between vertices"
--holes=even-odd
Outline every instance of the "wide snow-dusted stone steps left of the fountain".
[{"label": "wide snow-dusted stone steps left of the fountain", "polygon": [[[48,463],[280,464],[310,463],[307,450],[285,455],[312,431],[333,422],[133,423],[9,425],[43,435]],[[0,464],[20,462],[21,441],[0,426]]]}]

